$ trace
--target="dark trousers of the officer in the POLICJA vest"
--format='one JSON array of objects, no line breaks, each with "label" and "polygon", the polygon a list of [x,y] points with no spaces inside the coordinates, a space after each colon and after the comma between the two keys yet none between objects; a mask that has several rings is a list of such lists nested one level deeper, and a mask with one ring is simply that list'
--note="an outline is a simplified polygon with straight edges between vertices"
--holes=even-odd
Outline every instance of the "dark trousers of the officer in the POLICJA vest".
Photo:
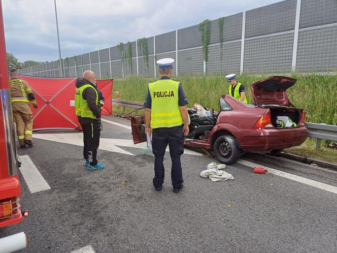
[{"label": "dark trousers of the officer in the POLICJA vest", "polygon": [[153,185],[159,186],[164,182],[164,154],[170,148],[172,161],[171,180],[174,187],[180,187],[184,182],[181,170],[180,156],[184,153],[182,127],[152,129],[152,152],[154,154]]}]

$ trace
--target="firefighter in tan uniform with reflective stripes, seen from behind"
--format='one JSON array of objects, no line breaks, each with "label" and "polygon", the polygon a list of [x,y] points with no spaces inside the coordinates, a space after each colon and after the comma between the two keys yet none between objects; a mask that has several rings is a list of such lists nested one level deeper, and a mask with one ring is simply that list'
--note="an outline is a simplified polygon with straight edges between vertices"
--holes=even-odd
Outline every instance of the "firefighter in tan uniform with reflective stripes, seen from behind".
[{"label": "firefighter in tan uniform with reflective stripes, seen from behind", "polygon": [[28,83],[19,79],[19,73],[16,69],[10,69],[9,74],[11,77],[9,83],[13,117],[16,123],[19,144],[21,148],[25,148],[26,145],[32,147],[33,117],[29,102],[35,109],[38,109],[36,99]]}]

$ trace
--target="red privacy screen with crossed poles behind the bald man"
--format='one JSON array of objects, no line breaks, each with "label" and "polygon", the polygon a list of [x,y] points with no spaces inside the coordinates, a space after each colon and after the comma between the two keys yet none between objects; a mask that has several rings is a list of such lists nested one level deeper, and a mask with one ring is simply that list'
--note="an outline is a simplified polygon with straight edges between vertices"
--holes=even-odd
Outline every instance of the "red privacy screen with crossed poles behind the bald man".
[{"label": "red privacy screen with crossed poles behind the bald man", "polygon": [[[75,82],[77,77],[47,78],[20,75],[35,94],[39,109],[33,112],[33,130],[81,129],[75,114]],[[111,115],[111,92],[113,80],[97,80],[105,104],[102,115]]]}]

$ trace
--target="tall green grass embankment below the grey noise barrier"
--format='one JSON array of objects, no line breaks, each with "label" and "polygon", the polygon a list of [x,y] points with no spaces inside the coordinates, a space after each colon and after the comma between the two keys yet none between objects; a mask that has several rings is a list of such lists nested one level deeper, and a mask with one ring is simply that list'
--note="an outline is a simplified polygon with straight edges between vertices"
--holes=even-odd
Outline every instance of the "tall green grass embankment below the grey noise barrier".
[{"label": "tall green grass embankment below the grey noise barrier", "polygon": [[[242,75],[238,81],[245,84],[248,103],[252,103],[250,85],[258,80],[267,78],[264,76]],[[289,88],[287,93],[289,100],[298,108],[304,108],[308,122],[337,124],[337,76],[336,75],[306,75],[294,76],[296,84]],[[175,79],[175,78],[173,78]],[[121,100],[144,102],[147,92],[147,84],[155,81],[155,78],[127,77],[124,80],[114,80],[113,91],[119,91]],[[228,93],[228,84],[224,76],[179,76],[186,97],[188,107],[198,103],[208,108],[219,110],[219,97]],[[113,94],[113,98],[116,96]],[[123,113],[122,108],[114,107],[114,113]],[[127,110],[130,110],[128,108]],[[315,149],[315,140],[308,139],[298,147],[286,149],[285,152],[308,156],[311,158],[328,161],[337,164],[337,151],[325,148],[327,141],[322,141],[322,148]]]}]

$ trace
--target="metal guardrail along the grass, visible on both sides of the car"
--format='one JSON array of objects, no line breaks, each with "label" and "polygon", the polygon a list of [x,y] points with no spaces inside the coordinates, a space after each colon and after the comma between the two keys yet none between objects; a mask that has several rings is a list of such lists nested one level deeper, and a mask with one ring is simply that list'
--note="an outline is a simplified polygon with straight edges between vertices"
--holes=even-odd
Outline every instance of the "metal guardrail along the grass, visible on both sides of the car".
[{"label": "metal guardrail along the grass, visible on both sides of the car", "polygon": [[[124,111],[125,107],[140,108],[144,106],[144,104],[141,102],[132,102],[118,99],[112,99],[111,101],[112,105],[114,106],[123,106]],[[318,124],[311,122],[305,122],[305,125],[309,131],[308,137],[317,139],[316,149],[321,148],[322,140],[337,141],[337,125],[327,125],[324,123]]]}]

